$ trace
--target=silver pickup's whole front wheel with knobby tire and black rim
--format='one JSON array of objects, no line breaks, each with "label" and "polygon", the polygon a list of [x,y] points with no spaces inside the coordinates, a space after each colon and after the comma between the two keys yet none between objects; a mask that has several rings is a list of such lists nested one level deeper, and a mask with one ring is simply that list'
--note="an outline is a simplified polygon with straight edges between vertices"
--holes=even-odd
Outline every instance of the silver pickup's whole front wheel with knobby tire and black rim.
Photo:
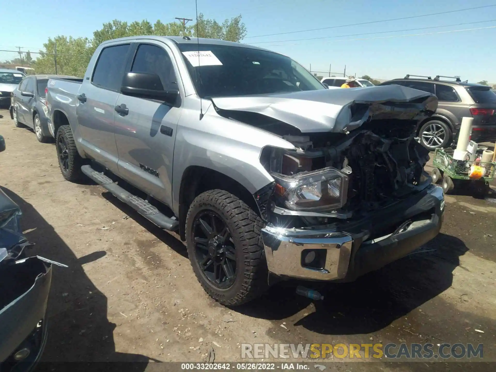
[{"label": "silver pickup's whole front wheel with knobby tire and black rim", "polygon": [[203,289],[219,303],[238,306],[267,287],[260,217],[224,190],[209,190],[191,203],[186,217],[186,245]]}]

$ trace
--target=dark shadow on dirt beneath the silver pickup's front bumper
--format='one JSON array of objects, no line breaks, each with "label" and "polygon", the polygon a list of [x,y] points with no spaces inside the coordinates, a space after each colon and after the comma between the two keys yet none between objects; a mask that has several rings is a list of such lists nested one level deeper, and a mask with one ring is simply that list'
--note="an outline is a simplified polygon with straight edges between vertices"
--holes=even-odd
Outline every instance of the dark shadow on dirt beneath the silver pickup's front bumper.
[{"label": "dark shadow on dirt beneath the silver pickup's front bumper", "polygon": [[282,282],[258,301],[235,310],[280,323],[312,303],[295,294],[295,285],[301,284],[318,290],[324,300],[315,301],[314,311],[295,319],[295,326],[320,334],[375,332],[449,288],[459,256],[467,250],[460,239],[439,234],[421,249],[355,282]]}]

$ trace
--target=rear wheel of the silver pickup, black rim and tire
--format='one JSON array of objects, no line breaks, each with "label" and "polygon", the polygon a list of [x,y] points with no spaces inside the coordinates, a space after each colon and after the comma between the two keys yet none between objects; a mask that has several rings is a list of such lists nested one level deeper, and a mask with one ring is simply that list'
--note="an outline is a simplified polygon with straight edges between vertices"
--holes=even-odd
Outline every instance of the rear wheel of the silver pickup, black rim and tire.
[{"label": "rear wheel of the silver pickup, black rim and tire", "polygon": [[56,137],[57,157],[63,178],[70,182],[81,180],[84,177],[81,171],[84,159],[77,152],[70,126],[62,125]]}]

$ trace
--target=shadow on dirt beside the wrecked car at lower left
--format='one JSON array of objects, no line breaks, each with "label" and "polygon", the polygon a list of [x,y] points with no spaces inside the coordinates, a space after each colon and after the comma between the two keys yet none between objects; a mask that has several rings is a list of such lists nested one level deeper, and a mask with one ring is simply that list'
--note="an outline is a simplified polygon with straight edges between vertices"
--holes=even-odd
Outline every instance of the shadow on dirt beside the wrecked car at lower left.
[{"label": "shadow on dirt beside the wrecked car at lower left", "polygon": [[[113,337],[116,325],[107,318],[107,297],[95,287],[82,267],[84,263],[103,257],[105,252],[97,251],[77,258],[31,204],[14,192],[1,188],[21,208],[23,229],[36,228],[27,234],[28,240],[36,243],[29,248],[27,255],[38,254],[69,266],[54,266],[47,309],[48,342],[37,370],[59,370],[62,362],[135,362],[127,363],[125,369],[144,371],[153,359],[116,352]],[[70,369],[74,371],[81,367],[87,371],[90,367],[93,370],[92,366],[85,365],[71,363]],[[120,363],[115,364],[116,368],[119,366],[122,370]]]}]

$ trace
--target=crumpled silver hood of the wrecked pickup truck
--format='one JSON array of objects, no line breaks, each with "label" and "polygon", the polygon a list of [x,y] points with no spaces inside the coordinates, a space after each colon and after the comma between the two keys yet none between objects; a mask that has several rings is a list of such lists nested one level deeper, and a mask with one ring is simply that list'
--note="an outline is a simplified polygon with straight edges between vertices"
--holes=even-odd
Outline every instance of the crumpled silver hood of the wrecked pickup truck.
[{"label": "crumpled silver hood of the wrecked pickup truck", "polygon": [[401,85],[321,89],[211,99],[216,109],[261,114],[297,127],[302,133],[343,133],[362,125],[369,116],[390,112],[412,119],[432,115],[437,98]]}]

